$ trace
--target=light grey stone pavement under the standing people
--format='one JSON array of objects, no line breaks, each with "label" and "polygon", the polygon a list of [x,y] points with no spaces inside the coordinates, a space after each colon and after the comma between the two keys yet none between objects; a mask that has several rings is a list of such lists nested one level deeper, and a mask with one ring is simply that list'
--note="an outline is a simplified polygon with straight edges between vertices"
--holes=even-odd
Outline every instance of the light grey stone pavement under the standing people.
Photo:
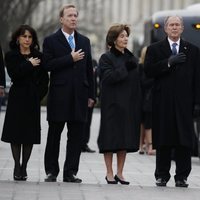
[{"label": "light grey stone pavement under the standing people", "polygon": [[[0,114],[0,133],[5,112]],[[62,166],[65,157],[66,129],[62,133],[60,148],[60,174],[56,183],[44,182],[44,148],[47,137],[45,108],[42,109],[42,141],[35,145],[28,163],[28,180],[13,181],[13,159],[10,146],[0,141],[0,200],[199,200],[200,199],[200,161],[192,158],[193,169],[188,179],[189,188],[175,188],[172,162],[172,178],[167,187],[155,186],[155,156],[130,153],[124,168],[124,176],[131,182],[125,185],[107,185],[103,156],[98,153],[96,144],[99,129],[99,110],[95,109],[91,126],[89,146],[96,153],[82,153],[78,177],[83,183],[63,183]],[[28,133],[27,133],[28,134]],[[0,134],[1,135],[1,134]],[[114,159],[114,166],[116,162]]]}]

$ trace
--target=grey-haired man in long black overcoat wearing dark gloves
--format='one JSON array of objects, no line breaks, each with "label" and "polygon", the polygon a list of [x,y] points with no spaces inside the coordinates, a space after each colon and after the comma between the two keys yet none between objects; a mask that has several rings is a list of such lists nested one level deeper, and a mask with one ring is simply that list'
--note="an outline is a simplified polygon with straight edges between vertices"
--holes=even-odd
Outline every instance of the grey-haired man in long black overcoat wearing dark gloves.
[{"label": "grey-haired man in long black overcoat wearing dark gloves", "polygon": [[152,134],[156,185],[166,186],[170,179],[173,150],[175,186],[188,187],[193,117],[200,113],[200,52],[181,38],[184,29],[181,17],[167,17],[164,29],[167,38],[149,46],[145,58],[145,72],[155,80]]}]

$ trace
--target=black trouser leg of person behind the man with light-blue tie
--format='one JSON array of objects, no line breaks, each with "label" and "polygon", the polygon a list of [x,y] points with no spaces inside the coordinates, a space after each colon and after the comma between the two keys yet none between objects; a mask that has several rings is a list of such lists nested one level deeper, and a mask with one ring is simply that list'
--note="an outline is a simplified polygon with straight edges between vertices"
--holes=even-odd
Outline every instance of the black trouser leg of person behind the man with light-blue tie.
[{"label": "black trouser leg of person behind the man with light-blue tie", "polygon": [[93,107],[88,108],[87,121],[85,122],[83,129],[83,143],[82,143],[83,149],[87,147],[87,144],[90,140],[90,126],[92,122],[92,114],[93,114]]}]

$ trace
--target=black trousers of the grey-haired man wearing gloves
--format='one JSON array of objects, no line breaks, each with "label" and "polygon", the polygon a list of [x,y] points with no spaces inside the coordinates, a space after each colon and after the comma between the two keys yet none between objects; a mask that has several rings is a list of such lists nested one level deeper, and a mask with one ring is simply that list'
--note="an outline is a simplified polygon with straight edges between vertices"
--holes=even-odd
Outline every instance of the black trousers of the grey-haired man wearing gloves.
[{"label": "black trousers of the grey-haired man wearing gloves", "polygon": [[191,149],[184,146],[162,146],[156,149],[155,178],[163,178],[166,181],[170,179],[172,156],[176,163],[175,181],[187,180],[192,168]]}]

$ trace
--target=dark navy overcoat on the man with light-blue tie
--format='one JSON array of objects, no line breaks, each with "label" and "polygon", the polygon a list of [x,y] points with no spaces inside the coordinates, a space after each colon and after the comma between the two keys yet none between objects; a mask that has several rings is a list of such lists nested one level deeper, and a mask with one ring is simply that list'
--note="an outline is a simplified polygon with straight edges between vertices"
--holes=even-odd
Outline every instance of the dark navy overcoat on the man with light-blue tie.
[{"label": "dark navy overcoat on the man with light-blue tie", "polygon": [[90,41],[75,31],[75,51],[84,59],[73,62],[71,48],[61,29],[44,40],[45,68],[50,72],[47,102],[49,121],[86,121],[88,98],[94,99],[94,79]]}]

